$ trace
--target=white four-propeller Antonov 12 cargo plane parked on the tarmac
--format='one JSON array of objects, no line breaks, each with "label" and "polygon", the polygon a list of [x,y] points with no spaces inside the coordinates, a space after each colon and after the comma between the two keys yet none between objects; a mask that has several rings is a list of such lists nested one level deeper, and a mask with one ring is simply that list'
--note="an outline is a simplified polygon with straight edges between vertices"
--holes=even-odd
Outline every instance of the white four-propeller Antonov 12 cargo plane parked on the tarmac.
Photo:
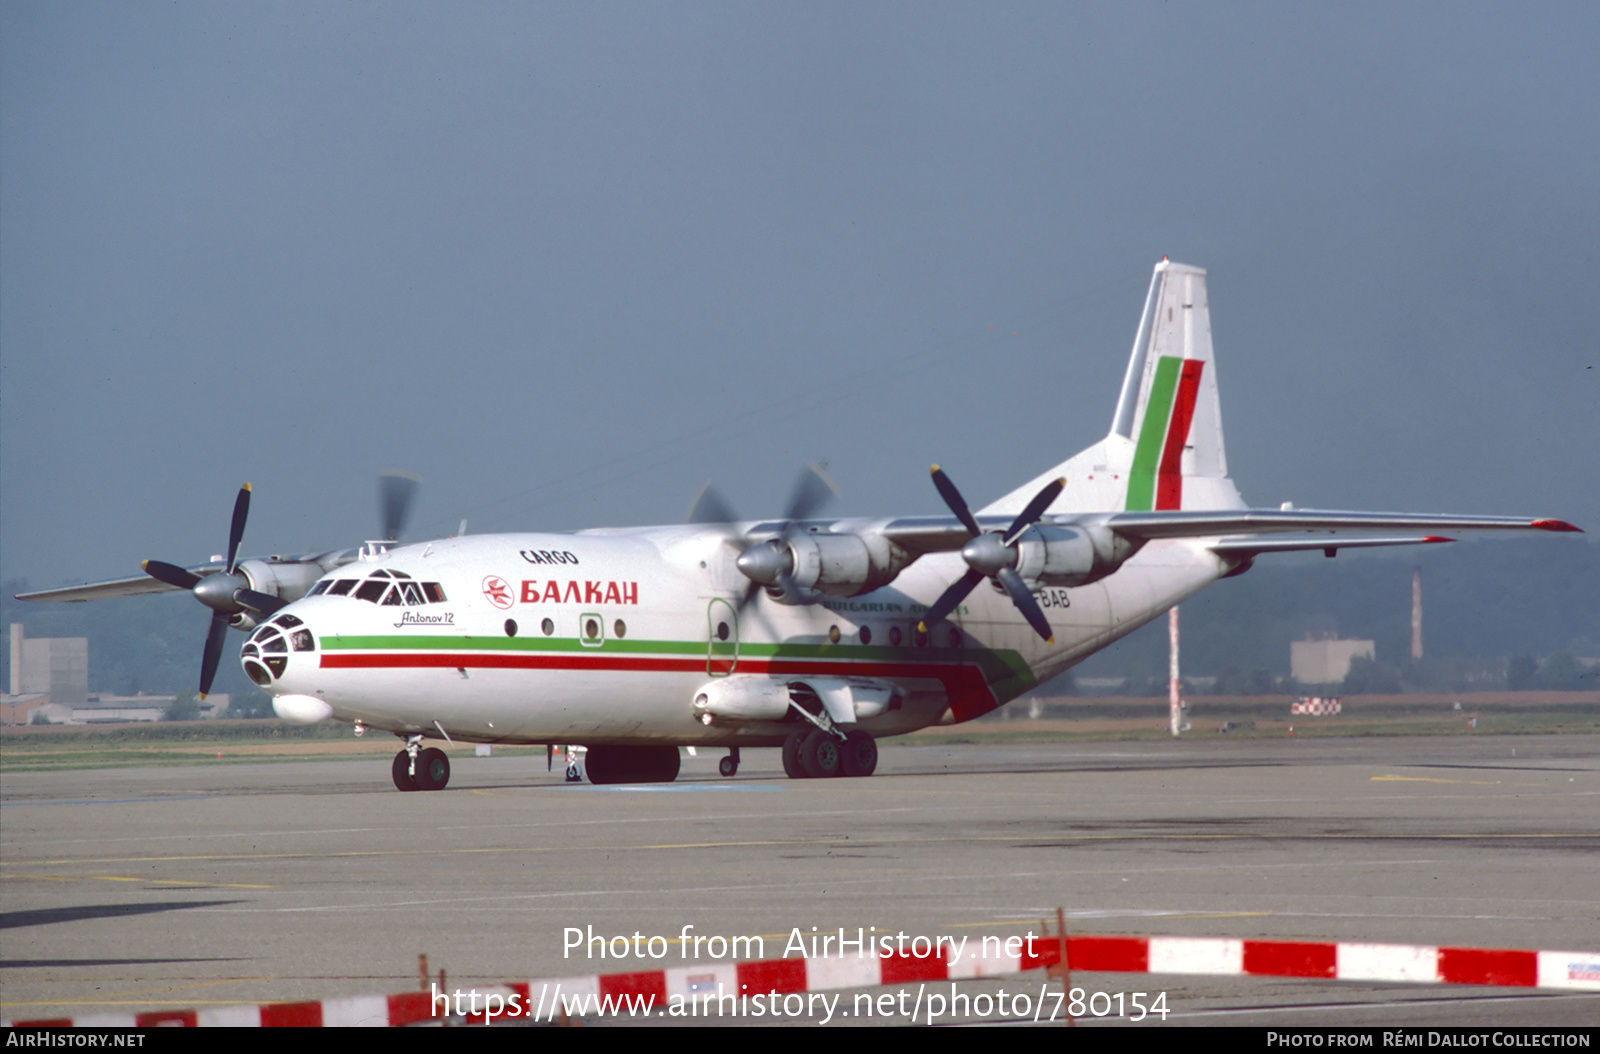
[{"label": "white four-propeller Antonov 12 cargo plane parked on the tarmac", "polygon": [[[781,518],[702,493],[680,526],[368,542],[320,557],[149,561],[27,600],[190,589],[291,721],[398,736],[400,790],[442,790],[424,736],[581,744],[597,784],[672,781],[678,749],[781,747],[792,777],[870,776],[875,741],[970,721],[1266,553],[1445,542],[1438,531],[1576,531],[1560,520],[1248,509],[1227,475],[1205,270],[1155,267],[1110,432],[971,510],[827,520],[813,469]],[[410,481],[390,477],[384,534]]]}]

